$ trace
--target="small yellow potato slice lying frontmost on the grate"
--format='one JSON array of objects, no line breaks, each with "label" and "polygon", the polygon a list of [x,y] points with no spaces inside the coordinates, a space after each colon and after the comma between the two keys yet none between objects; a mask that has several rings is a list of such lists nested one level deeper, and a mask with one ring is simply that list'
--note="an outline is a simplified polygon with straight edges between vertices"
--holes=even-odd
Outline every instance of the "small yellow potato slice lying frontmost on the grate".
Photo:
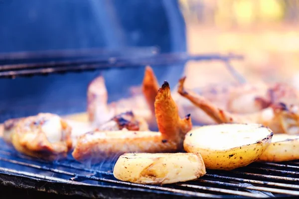
[{"label": "small yellow potato slice lying frontmost on the grate", "polygon": [[198,153],[126,153],[119,157],[113,175],[139,184],[171,184],[205,175]]}]

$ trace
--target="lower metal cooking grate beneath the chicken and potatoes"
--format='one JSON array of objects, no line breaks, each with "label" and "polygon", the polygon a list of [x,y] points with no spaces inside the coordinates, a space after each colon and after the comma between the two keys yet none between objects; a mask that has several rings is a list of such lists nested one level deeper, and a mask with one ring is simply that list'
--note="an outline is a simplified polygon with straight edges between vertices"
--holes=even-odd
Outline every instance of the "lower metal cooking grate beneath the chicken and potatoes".
[{"label": "lower metal cooking grate beneath the chicken and potatoes", "polygon": [[[299,196],[299,161],[253,163],[234,171],[207,170],[196,181],[140,185],[113,177],[111,160],[87,167],[71,157],[47,163],[16,153],[0,140],[0,181],[4,185],[83,197],[268,198]],[[48,183],[47,183],[48,182]]]}]

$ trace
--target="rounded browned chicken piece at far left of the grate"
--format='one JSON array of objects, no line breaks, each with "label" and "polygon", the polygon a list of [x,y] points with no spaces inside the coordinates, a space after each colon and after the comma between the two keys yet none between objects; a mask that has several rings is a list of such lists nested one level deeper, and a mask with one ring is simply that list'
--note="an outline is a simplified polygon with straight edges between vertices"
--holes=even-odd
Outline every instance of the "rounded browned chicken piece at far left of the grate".
[{"label": "rounded browned chicken piece at far left of the grate", "polygon": [[58,115],[39,113],[17,123],[11,142],[21,153],[54,161],[65,158],[72,148],[71,130]]}]

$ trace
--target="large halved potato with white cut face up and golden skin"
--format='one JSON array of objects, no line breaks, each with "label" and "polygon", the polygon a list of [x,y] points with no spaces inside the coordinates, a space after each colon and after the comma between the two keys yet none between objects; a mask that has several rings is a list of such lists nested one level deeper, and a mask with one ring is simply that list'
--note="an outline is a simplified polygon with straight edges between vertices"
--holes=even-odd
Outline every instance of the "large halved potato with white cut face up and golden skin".
[{"label": "large halved potato with white cut face up and golden skin", "polygon": [[217,124],[189,131],[184,149],[200,153],[207,169],[232,170],[256,161],[273,132],[260,124]]}]

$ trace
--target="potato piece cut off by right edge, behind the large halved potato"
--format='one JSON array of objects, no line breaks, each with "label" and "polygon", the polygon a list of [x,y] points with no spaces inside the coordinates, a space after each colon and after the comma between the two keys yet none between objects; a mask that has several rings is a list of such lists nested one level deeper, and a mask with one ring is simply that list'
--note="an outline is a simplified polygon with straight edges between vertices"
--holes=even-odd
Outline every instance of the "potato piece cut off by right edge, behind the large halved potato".
[{"label": "potato piece cut off by right edge, behind the large halved potato", "polygon": [[299,159],[299,135],[274,134],[258,161],[283,162]]}]

